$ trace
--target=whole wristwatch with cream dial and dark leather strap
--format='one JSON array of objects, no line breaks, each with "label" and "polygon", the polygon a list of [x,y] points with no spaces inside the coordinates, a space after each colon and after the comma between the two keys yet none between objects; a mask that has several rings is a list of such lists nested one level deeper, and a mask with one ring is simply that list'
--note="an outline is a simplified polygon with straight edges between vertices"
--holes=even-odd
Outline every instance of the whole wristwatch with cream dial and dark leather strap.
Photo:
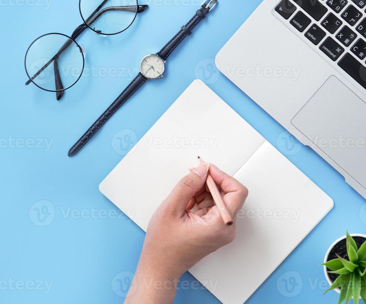
[{"label": "whole wristwatch with cream dial and dark leather strap", "polygon": [[115,101],[104,111],[102,115],[91,125],[84,135],[71,147],[68,156],[74,156],[90,140],[90,138],[101,128],[102,125],[117,111],[122,104],[131,97],[146,81],[164,77],[165,62],[169,55],[176,49],[180,42],[191,34],[193,28],[206,17],[215,7],[217,0],[205,0],[200,9],[191,20],[180,29],[180,31],[154,55],[147,55],[142,58],[140,72],[126,89],[116,98]]}]

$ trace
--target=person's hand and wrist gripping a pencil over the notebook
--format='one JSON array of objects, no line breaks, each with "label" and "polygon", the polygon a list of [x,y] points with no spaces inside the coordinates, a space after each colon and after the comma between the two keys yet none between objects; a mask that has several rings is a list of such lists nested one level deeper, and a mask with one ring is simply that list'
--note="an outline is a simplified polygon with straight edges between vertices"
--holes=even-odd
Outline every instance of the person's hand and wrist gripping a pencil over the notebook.
[{"label": "person's hand and wrist gripping a pencil over the notebook", "polygon": [[[233,219],[234,223],[229,227],[205,185],[208,170]],[[148,276],[171,282],[174,286],[180,276],[198,261],[232,242],[236,213],[242,208],[247,195],[246,187],[213,164],[202,163],[184,176],[150,220],[134,281],[137,283],[141,276]],[[196,204],[197,210],[194,208]],[[147,296],[146,290],[143,293]],[[143,299],[137,298],[139,294],[134,298],[141,302]],[[161,292],[158,293],[160,303],[170,303],[170,300],[165,302],[166,299]],[[152,297],[148,300],[154,302]]]}]

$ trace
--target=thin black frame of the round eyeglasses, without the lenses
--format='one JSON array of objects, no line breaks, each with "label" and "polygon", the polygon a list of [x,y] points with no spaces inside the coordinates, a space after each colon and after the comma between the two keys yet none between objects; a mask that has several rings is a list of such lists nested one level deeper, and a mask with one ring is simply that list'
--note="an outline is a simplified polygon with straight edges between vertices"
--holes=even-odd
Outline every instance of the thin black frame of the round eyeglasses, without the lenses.
[{"label": "thin black frame of the round eyeglasses, without the lenses", "polygon": [[[82,73],[84,71],[84,66],[85,66],[85,59],[84,59],[84,55],[83,55],[83,50],[81,48],[81,46],[75,41],[76,38],[79,37],[79,35],[81,35],[87,27],[89,27],[92,31],[94,31],[95,33],[99,34],[99,35],[116,35],[116,34],[120,34],[122,33],[123,31],[127,30],[127,28],[129,28],[132,23],[134,23],[135,19],[136,19],[136,16],[138,13],[141,13],[143,11],[145,11],[149,6],[148,5],[139,5],[138,4],[138,0],[136,0],[136,5],[127,5],[127,6],[122,6],[122,7],[108,7],[108,8],[104,8],[102,9],[101,11],[99,11],[99,9],[105,4],[107,3],[108,0],[103,0],[102,3],[98,6],[98,8],[89,16],[89,18],[87,18],[86,20],[84,20],[83,16],[82,16],[82,13],[81,13],[81,7],[80,7],[80,4],[81,4],[81,1],[82,0],[79,0],[79,12],[80,12],[80,15],[81,15],[81,18],[83,19],[84,23],[80,24],[78,27],[75,28],[74,32],[72,33],[71,37],[68,36],[68,35],[65,35],[65,34],[61,34],[61,33],[47,33],[47,34],[44,34],[44,35],[41,35],[40,37],[36,38],[32,43],[31,45],[28,47],[27,49],[27,52],[25,54],[25,58],[24,58],[24,67],[25,67],[25,71],[26,71],[26,74],[28,76],[28,80],[26,81],[25,85],[28,86],[31,82],[34,83],[38,88],[44,90],[44,91],[48,91],[48,92],[56,92],[56,99],[57,100],[60,100],[61,97],[63,96],[63,92],[69,88],[71,88],[72,86],[74,86],[78,81],[79,79],[81,78],[82,76]],[[113,34],[104,34],[102,33],[101,31],[98,31],[98,30],[95,30],[93,28],[90,27],[89,23],[93,23],[95,20],[98,19],[98,17],[100,17],[104,12],[107,12],[107,11],[112,11],[112,10],[121,10],[121,11],[128,11],[128,9],[131,9],[131,8],[134,8],[133,11],[131,12],[135,12],[135,16],[134,18],[132,19],[130,25],[128,25],[126,28],[124,28],[122,31],[118,32],[118,33],[113,33]],[[98,12],[99,11],[99,12]],[[37,73],[34,74],[34,76],[30,76],[28,71],[27,71],[27,66],[26,66],[26,59],[27,59],[27,54],[29,52],[29,49],[30,47],[33,45],[34,42],[36,42],[38,39],[46,36],[46,35],[51,35],[51,34],[59,34],[59,35],[63,35],[65,37],[68,38],[68,40],[64,43],[64,45],[60,48],[60,50],[56,53],[55,56],[53,56],[51,58],[51,60],[49,60]],[[68,47],[71,45],[71,43],[74,42],[80,52],[82,53],[82,57],[83,57],[83,68],[82,68],[82,71],[78,77],[78,79],[69,87],[67,88],[63,88],[62,86],[62,82],[61,82],[61,77],[60,77],[60,74],[59,74],[59,69],[58,69],[58,66],[57,66],[57,60],[60,56],[60,54]],[[33,80],[38,76],[40,75],[40,73],[42,73],[44,71],[45,68],[47,68],[47,66],[49,66],[53,61],[55,61],[54,65],[55,65],[55,68],[54,68],[54,72],[55,72],[55,88],[56,90],[48,90],[48,89],[45,89],[45,88],[42,88],[41,86],[39,86],[37,83],[35,83]]]}]

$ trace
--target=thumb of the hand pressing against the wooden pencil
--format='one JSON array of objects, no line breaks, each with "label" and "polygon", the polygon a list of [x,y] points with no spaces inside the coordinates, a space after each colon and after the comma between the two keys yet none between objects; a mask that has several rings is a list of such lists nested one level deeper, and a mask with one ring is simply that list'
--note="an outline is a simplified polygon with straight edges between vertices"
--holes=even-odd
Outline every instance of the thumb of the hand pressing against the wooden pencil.
[{"label": "thumb of the hand pressing against the wooden pencil", "polygon": [[186,210],[192,197],[206,182],[209,163],[202,163],[190,174],[184,176],[165,199],[164,204],[179,216]]}]

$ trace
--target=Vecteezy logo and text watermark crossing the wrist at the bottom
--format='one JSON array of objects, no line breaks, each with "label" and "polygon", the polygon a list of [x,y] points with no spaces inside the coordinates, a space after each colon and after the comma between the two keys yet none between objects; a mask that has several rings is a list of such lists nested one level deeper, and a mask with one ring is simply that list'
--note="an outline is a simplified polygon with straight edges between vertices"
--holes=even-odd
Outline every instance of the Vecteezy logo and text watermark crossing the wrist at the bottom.
[{"label": "Vecteezy logo and text watermark crossing the wrist at the bottom", "polygon": [[[119,297],[132,296],[137,290],[137,283],[133,282],[135,278],[135,274],[131,271],[123,271],[112,279],[112,290]],[[212,280],[201,280],[200,282],[197,280],[188,281],[188,280],[179,280],[175,278],[173,281],[162,281],[155,280],[154,278],[142,278],[139,280],[140,284],[142,283],[144,288],[147,290],[155,289],[155,290],[204,290],[208,289],[211,292],[215,292],[217,286],[219,285],[219,281]]]}]

